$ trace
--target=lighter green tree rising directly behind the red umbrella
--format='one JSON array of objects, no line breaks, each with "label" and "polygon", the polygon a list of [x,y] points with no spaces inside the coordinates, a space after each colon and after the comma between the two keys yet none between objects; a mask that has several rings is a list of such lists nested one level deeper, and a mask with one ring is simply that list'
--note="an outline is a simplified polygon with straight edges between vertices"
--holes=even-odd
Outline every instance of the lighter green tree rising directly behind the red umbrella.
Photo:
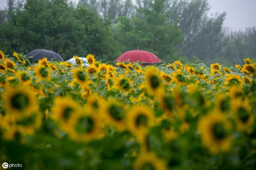
[{"label": "lighter green tree rising directly behind the red umbrella", "polygon": [[[168,21],[164,12],[165,0],[148,2],[149,8],[142,5],[134,17],[121,17],[114,27],[116,39],[124,51],[137,49],[151,51],[161,59],[170,61],[179,51],[182,33],[177,25]],[[145,4],[144,4],[145,5]]]}]

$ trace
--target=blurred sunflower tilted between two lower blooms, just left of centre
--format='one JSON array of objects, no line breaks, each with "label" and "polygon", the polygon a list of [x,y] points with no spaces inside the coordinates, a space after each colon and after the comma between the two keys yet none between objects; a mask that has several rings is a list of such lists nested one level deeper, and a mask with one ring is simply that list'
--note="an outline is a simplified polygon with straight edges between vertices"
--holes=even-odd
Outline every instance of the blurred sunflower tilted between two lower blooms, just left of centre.
[{"label": "blurred sunflower tilted between two lower blooms, just left of centre", "polygon": [[116,127],[118,131],[126,129],[126,106],[116,100],[110,100],[101,104],[101,113],[106,123]]}]

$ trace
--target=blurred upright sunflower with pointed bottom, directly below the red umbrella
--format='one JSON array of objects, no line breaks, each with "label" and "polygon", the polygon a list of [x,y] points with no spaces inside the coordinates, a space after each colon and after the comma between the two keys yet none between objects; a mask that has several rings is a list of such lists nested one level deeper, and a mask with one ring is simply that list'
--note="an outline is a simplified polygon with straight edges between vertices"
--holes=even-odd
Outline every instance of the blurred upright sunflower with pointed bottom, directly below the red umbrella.
[{"label": "blurred upright sunflower with pointed bottom, directly below the red umbrella", "polygon": [[138,138],[145,135],[154,125],[154,114],[146,106],[134,106],[127,114],[127,118],[130,131]]}]

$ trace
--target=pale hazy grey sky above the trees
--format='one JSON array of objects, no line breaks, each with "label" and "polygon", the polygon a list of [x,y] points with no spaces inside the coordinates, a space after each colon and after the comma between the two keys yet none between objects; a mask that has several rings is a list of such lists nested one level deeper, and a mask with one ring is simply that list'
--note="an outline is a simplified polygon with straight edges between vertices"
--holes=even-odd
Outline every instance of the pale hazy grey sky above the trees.
[{"label": "pale hazy grey sky above the trees", "polygon": [[[78,2],[79,0],[72,0]],[[246,27],[256,27],[256,0],[208,0],[211,14],[226,12],[226,20],[223,26],[235,30]],[[0,8],[7,6],[6,0],[0,0]]]}]

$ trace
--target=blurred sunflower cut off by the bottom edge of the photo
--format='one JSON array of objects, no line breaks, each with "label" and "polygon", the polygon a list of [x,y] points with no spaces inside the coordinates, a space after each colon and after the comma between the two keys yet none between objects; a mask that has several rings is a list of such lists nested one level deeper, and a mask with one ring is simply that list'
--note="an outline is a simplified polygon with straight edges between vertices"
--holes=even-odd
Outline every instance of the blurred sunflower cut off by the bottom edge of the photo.
[{"label": "blurred sunflower cut off by the bottom edge of the photo", "polygon": [[150,152],[141,153],[134,163],[134,170],[166,170],[166,163],[156,154]]}]

